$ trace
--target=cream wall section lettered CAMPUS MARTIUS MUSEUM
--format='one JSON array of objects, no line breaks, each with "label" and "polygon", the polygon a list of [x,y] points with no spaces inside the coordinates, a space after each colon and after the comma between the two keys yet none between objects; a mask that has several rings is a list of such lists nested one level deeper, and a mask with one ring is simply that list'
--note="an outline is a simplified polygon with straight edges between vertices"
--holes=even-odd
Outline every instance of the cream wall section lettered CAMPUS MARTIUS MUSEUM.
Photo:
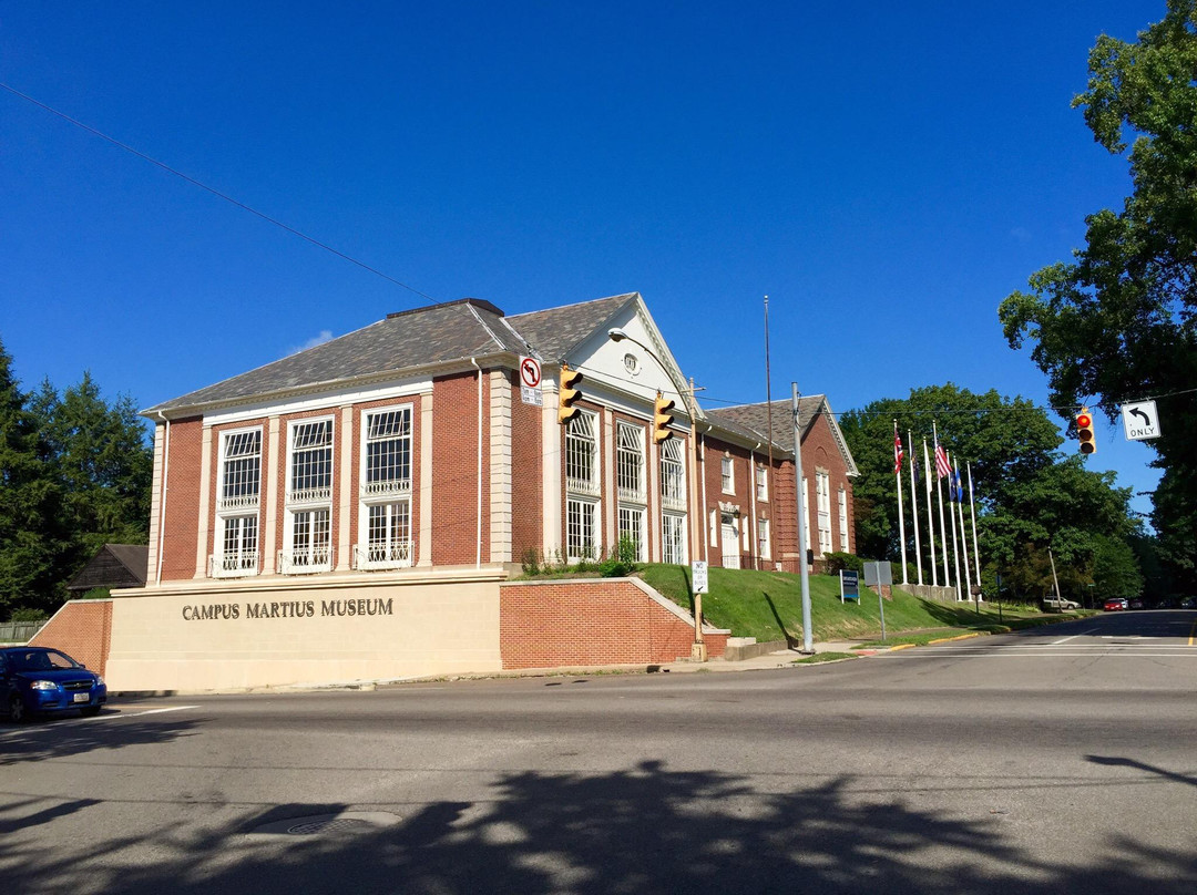
[{"label": "cream wall section lettered CAMPUS MARTIUS MUSEUM", "polygon": [[[230,690],[502,668],[498,576],[305,584],[235,582],[114,597],[109,690]],[[367,611],[350,615],[351,603]],[[267,617],[253,617],[262,607]]]}]

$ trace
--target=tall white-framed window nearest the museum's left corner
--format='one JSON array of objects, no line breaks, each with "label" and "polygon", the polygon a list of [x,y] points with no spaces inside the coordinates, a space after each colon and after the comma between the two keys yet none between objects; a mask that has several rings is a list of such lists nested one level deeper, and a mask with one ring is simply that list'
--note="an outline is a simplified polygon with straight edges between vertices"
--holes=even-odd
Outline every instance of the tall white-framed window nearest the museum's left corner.
[{"label": "tall white-framed window nearest the museum's left corner", "polygon": [[208,560],[209,577],[257,574],[261,491],[262,430],[223,432],[217,486],[217,541],[215,552]]}]

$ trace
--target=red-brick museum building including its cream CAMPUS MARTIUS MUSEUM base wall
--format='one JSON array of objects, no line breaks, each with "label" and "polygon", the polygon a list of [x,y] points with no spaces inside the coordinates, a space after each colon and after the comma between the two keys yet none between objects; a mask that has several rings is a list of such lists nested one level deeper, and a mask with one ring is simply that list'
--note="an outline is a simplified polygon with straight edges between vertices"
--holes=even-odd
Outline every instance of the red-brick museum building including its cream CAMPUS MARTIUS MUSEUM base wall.
[{"label": "red-brick museum building including its cream CAMPUS MARTIUS MUSEUM base wall", "polygon": [[[686,392],[638,293],[388,315],[145,410],[145,586],[44,633],[86,629],[110,687],[139,690],[686,656],[693,619],[638,579],[511,580],[620,543],[783,571],[800,549],[816,568],[853,552],[856,468],[824,396],[801,400],[796,487],[790,400],[712,410]],[[706,632],[718,656],[728,632]]]}]

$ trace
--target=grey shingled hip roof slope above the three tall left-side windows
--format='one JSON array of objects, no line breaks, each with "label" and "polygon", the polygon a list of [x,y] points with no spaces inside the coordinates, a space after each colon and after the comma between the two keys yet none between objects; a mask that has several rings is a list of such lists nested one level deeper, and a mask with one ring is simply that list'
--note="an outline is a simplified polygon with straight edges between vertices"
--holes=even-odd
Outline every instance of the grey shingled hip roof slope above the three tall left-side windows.
[{"label": "grey shingled hip roof slope above the three tall left-side windows", "polygon": [[237,401],[321,383],[525,351],[498,308],[488,302],[462,299],[389,315],[363,329],[164,401],[142,413]]}]

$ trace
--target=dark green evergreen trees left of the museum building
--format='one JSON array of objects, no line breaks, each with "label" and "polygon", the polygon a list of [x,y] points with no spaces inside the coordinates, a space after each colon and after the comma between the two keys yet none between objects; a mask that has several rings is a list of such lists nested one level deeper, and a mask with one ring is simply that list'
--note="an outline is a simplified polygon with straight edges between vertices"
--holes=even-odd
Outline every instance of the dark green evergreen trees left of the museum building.
[{"label": "dark green evergreen trees left of the museum building", "polygon": [[24,394],[0,343],[0,617],[54,609],[104,543],[145,543],[152,467],[128,396],[86,373]]}]

